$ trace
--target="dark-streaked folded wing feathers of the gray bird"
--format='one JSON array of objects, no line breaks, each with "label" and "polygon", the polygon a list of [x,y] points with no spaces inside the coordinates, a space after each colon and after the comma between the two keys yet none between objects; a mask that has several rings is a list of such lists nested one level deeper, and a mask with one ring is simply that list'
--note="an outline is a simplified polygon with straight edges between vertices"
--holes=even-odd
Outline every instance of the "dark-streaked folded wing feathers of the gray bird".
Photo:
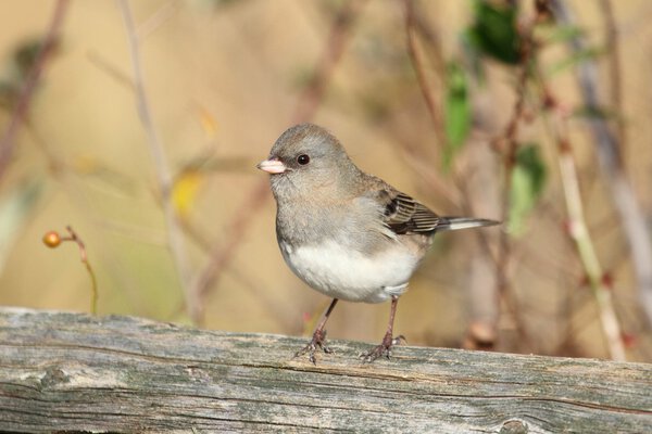
[{"label": "dark-streaked folded wing feathers of the gray bird", "polygon": [[440,217],[406,194],[381,190],[385,224],[397,234],[434,232]]}]

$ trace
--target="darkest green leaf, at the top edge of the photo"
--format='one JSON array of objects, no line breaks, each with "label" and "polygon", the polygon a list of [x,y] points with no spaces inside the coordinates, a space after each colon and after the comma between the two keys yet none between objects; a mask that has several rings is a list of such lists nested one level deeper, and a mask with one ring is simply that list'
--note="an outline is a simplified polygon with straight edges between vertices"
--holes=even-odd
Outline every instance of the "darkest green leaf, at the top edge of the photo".
[{"label": "darkest green leaf, at the top edge of the photo", "polygon": [[521,37],[516,28],[518,10],[514,4],[476,0],[474,23],[466,39],[482,54],[515,65],[521,61]]}]

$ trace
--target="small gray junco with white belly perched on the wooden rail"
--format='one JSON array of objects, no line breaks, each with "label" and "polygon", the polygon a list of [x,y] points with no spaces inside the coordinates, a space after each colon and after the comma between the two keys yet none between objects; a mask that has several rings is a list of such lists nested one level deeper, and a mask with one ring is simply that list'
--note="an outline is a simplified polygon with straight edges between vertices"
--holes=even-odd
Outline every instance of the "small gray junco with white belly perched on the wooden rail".
[{"label": "small gray junco with white belly perched on the wooden rail", "polygon": [[439,217],[387,182],[360,170],[326,129],[301,124],[287,129],[258,168],[271,174],[276,199],[276,239],[290,269],[333,297],[308,353],[325,353],[324,326],[338,299],[391,301],[387,333],[362,355],[371,362],[389,358],[399,297],[437,231],[477,228],[498,221]]}]

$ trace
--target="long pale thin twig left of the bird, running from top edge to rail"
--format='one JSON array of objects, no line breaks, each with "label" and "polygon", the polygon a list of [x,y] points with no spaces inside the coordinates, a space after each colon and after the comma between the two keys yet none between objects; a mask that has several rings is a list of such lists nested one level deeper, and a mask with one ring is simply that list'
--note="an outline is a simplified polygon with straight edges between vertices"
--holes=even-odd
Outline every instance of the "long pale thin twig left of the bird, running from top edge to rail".
[{"label": "long pale thin twig left of the bird, running from top edge to rail", "polygon": [[184,245],[183,232],[177,220],[174,204],[172,203],[173,177],[170,168],[167,167],[163,144],[159,138],[156,129],[154,128],[149,100],[145,90],[143,74],[140,63],[139,39],[138,35],[136,34],[136,25],[134,23],[134,16],[131,14],[131,9],[129,8],[128,1],[120,0],[118,4],[125,23],[129,54],[131,58],[131,67],[134,68],[134,90],[136,91],[138,116],[140,117],[140,122],[148,138],[147,142],[152,154],[154,167],[156,169],[159,188],[161,190],[161,202],[165,217],[165,226],[167,229],[168,246],[177,270],[179,283],[184,291],[186,308],[188,309],[190,318],[193,321],[197,321],[201,310],[201,307],[199,306],[200,298],[198,297],[198,294],[192,292],[192,286],[189,284],[190,269],[188,265],[188,257],[186,254],[186,247]]}]

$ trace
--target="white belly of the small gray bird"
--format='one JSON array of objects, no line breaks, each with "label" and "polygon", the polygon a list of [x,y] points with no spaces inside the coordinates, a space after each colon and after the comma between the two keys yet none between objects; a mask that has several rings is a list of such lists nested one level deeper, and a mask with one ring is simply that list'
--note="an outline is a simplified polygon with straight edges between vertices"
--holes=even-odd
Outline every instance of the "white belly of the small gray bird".
[{"label": "white belly of the small gray bird", "polygon": [[372,257],[336,242],[297,248],[280,242],[280,251],[305,283],[329,297],[349,302],[380,303],[401,295],[418,265],[418,258],[408,248]]}]

